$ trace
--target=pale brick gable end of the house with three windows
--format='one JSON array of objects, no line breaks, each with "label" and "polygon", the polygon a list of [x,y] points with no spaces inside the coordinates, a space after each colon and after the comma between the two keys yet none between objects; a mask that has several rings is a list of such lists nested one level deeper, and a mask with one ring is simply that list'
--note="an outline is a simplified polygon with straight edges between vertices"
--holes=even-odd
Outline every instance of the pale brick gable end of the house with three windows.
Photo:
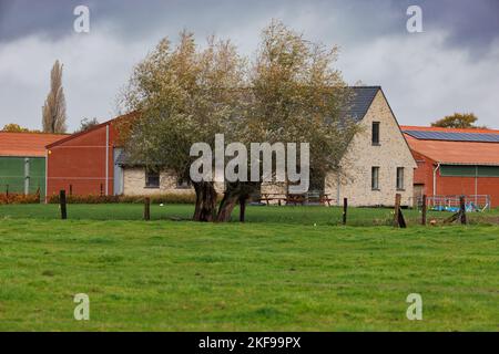
[{"label": "pale brick gable end of the house with three windows", "polygon": [[340,162],[342,175],[329,174],[325,192],[335,204],[352,206],[413,205],[413,176],[417,167],[400,126],[380,86],[353,87],[347,115],[360,126]]}]

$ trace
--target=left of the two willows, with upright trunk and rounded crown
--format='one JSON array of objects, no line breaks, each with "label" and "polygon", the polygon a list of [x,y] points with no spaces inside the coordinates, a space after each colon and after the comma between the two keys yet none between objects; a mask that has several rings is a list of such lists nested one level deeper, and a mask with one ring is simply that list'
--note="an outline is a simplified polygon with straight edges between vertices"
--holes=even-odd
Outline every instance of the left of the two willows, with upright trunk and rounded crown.
[{"label": "left of the two willows, with upright trunk and rounded crown", "polygon": [[[228,41],[210,38],[200,49],[194,35],[182,32],[172,46],[162,40],[136,65],[123,98],[129,111],[140,112],[130,129],[122,129],[132,162],[147,168],[165,168],[190,178],[194,143],[214,146],[215,134],[230,132],[238,116],[243,62]],[[193,181],[196,191],[194,220],[212,221],[216,211],[213,181]]]}]

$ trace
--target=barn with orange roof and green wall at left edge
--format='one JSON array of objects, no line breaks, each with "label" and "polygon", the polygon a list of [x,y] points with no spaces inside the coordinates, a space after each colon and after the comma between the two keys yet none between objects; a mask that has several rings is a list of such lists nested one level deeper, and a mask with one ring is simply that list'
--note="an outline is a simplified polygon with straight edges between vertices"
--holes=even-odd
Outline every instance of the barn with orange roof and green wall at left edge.
[{"label": "barn with orange roof and green wall at left edge", "polygon": [[45,145],[67,135],[0,132],[0,194],[45,194]]}]

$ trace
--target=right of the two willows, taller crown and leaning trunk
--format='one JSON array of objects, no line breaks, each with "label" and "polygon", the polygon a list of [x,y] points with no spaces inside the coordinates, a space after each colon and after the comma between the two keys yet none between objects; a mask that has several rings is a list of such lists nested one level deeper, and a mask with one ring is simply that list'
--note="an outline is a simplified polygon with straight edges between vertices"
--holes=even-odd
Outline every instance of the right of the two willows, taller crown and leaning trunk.
[{"label": "right of the two willows, taller crown and leaning trunk", "polygon": [[[343,115],[352,93],[334,69],[336,58],[336,46],[312,43],[272,21],[251,63],[248,110],[234,129],[237,140],[246,146],[252,142],[308,143],[312,178],[324,180],[327,173],[338,170],[357,125]],[[218,221],[228,220],[234,207],[259,186],[227,184]]]}]

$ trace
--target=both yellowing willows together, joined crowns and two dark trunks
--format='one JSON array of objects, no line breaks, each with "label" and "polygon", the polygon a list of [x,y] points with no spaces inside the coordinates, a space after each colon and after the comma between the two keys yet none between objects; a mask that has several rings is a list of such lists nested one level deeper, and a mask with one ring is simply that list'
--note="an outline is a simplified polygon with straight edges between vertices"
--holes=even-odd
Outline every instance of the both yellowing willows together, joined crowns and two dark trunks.
[{"label": "both yellowing willows together, joined crowns and two dark trunks", "polygon": [[[215,134],[224,134],[248,149],[251,143],[308,143],[310,169],[324,178],[339,168],[357,129],[342,115],[349,90],[333,67],[336,55],[336,48],[310,43],[278,21],[263,31],[253,61],[228,41],[210,39],[201,50],[191,33],[175,48],[162,40],[124,91],[125,107],[140,112],[121,129],[130,160],[190,178],[191,146],[214,150]],[[228,220],[262,180],[226,183],[217,212],[214,183],[193,181],[194,220]]]}]

